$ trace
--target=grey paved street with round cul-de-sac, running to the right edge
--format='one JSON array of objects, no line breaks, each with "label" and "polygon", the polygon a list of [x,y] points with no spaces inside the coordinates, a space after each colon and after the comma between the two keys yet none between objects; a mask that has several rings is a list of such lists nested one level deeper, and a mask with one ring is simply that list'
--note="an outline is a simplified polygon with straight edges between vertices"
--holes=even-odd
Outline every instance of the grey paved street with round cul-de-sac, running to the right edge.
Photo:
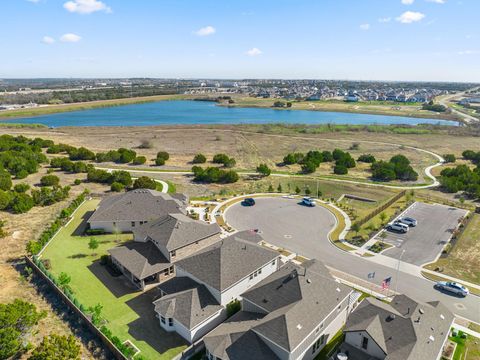
[{"label": "grey paved street with round cul-de-sac, running to the right edge", "polygon": [[[304,208],[296,204],[298,200],[283,198],[256,201],[257,204],[251,208],[241,205],[230,207],[225,213],[227,222],[237,230],[260,229],[266,241],[282,247],[288,240],[284,235],[290,234],[295,236],[297,241],[288,242],[290,245],[288,248],[299,255],[317,258],[326,265],[364,280],[367,280],[368,273],[375,272],[375,278],[371,282],[376,285],[380,285],[383,279],[391,276],[392,289],[398,286],[398,292],[420,301],[440,300],[455,314],[480,323],[478,297],[472,295],[457,298],[441,293],[433,289],[433,282],[403,272],[402,267],[397,279],[395,269],[342,251],[332,245],[326,234],[334,225],[333,215],[329,215],[326,209]],[[305,214],[306,211],[310,211],[311,214],[297,215],[297,212]]]}]

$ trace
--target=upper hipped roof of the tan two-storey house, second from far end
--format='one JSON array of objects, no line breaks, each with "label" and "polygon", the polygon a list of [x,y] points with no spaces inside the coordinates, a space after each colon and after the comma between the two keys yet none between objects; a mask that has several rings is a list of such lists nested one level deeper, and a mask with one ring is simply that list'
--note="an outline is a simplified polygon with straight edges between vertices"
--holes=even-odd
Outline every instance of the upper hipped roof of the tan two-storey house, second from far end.
[{"label": "upper hipped roof of the tan two-storey house, second from far end", "polygon": [[172,251],[220,234],[221,229],[218,224],[194,220],[184,214],[167,214],[140,225],[133,233],[135,238],[148,238]]}]

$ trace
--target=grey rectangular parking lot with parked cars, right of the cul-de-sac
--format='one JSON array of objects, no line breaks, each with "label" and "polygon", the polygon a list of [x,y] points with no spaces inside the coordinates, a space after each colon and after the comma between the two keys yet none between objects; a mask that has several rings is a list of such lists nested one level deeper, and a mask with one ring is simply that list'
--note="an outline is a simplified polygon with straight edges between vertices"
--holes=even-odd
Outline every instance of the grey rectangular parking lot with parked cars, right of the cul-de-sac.
[{"label": "grey rectangular parking lot with parked cars, right of the cul-de-sac", "polygon": [[385,231],[386,237],[382,241],[393,247],[383,254],[398,259],[405,250],[402,261],[415,265],[432,262],[450,240],[458,220],[466,213],[465,210],[439,204],[415,203],[402,217],[416,219],[417,226],[411,227],[406,234]]}]

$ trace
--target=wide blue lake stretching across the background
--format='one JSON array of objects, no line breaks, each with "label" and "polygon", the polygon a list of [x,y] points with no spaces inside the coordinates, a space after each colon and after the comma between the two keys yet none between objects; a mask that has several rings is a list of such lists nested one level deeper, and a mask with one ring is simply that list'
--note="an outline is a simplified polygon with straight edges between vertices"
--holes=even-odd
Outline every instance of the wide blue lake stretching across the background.
[{"label": "wide blue lake stretching across the background", "polygon": [[367,115],[308,110],[229,108],[205,101],[159,101],[81,110],[8,120],[23,124],[60,126],[147,126],[201,124],[441,124],[454,121],[402,116]]}]

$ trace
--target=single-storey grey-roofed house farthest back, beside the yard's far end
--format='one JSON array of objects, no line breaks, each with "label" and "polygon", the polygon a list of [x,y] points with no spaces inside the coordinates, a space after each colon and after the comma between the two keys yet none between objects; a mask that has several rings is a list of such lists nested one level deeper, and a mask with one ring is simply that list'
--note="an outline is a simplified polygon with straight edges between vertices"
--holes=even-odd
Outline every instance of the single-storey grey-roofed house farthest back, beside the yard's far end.
[{"label": "single-storey grey-roofed house farthest back, beside the yard's far end", "polygon": [[182,194],[164,194],[136,189],[103,199],[87,223],[105,232],[129,232],[167,214],[185,213],[188,199]]}]

